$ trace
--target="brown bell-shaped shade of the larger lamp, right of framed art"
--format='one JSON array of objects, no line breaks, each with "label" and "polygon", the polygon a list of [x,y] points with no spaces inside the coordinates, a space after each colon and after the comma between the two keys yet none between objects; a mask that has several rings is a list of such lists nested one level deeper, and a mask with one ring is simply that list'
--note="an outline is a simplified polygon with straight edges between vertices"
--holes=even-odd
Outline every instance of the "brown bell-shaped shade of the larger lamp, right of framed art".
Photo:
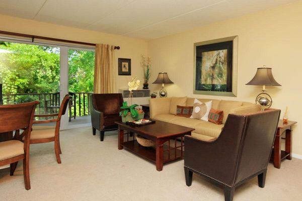
[{"label": "brown bell-shaped shade of the larger lamp, right of framed art", "polygon": [[247,85],[281,86],[273,77],[271,68],[258,68],[255,76]]}]

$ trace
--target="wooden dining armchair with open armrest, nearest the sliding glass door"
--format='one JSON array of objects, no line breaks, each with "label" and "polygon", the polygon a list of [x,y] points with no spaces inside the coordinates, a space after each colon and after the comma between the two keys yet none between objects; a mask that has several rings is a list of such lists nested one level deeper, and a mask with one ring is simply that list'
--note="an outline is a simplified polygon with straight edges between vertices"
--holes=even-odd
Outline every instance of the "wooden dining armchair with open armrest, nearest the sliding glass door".
[{"label": "wooden dining armchair with open armrest, nearest the sliding glass door", "polygon": [[52,118],[47,120],[33,121],[33,124],[47,124],[56,122],[55,127],[52,126],[34,126],[30,136],[30,144],[54,142],[54,152],[56,160],[61,163],[60,154],[60,122],[62,115],[65,114],[70,96],[66,94],[60,105],[59,113],[45,114],[45,115],[34,115],[34,118]]}]

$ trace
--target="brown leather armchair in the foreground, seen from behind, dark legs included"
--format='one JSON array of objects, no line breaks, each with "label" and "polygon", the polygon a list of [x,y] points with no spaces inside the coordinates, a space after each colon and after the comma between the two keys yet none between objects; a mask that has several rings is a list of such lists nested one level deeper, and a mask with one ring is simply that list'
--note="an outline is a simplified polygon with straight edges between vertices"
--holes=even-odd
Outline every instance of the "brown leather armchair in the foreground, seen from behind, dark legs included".
[{"label": "brown leather armchair in the foreground, seen from behind, dark legs included", "polygon": [[255,176],[263,188],[279,117],[280,110],[273,109],[230,114],[216,140],[185,136],[187,186],[195,172],[224,186],[225,201],[233,200],[235,188]]}]

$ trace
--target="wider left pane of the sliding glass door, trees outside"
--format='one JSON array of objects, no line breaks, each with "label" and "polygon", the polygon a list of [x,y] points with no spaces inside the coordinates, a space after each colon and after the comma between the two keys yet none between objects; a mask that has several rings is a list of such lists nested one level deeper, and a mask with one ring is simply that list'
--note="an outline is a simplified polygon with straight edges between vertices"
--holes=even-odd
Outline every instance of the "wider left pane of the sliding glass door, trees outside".
[{"label": "wider left pane of the sliding glass door, trees outside", "polygon": [[39,100],[37,114],[53,112],[59,104],[60,48],[1,41],[0,80],[4,104]]}]

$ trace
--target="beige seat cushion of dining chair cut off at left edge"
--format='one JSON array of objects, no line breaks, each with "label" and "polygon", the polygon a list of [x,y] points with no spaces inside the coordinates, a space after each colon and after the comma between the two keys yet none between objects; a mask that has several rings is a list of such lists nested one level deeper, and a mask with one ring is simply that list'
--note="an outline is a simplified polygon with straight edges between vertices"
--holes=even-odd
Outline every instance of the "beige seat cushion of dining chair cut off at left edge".
[{"label": "beige seat cushion of dining chair cut off at left edge", "polygon": [[18,140],[0,142],[0,161],[24,154],[24,144]]}]

